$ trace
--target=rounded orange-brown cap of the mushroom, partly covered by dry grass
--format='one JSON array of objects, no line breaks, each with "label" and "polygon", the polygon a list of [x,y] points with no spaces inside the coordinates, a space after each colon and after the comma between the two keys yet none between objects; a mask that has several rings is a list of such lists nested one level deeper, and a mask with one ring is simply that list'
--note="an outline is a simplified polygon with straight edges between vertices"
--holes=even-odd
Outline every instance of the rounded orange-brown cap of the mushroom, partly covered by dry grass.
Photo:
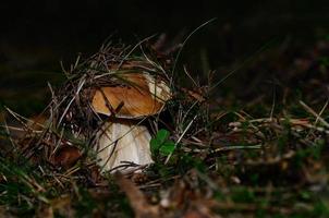
[{"label": "rounded orange-brown cap of the mushroom, partly covered by dry grass", "polygon": [[153,116],[163,108],[170,98],[170,89],[163,80],[146,72],[122,73],[123,85],[101,87],[96,90],[93,109],[106,116],[115,111],[118,118]]}]

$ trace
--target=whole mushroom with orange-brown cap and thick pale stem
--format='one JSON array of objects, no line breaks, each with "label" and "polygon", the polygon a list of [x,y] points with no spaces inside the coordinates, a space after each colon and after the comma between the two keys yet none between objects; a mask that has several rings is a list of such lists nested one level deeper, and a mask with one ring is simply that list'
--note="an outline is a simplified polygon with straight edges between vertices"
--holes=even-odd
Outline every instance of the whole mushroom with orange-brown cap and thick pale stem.
[{"label": "whole mushroom with orange-brown cap and thick pale stem", "polygon": [[162,77],[141,71],[118,72],[120,85],[99,87],[93,96],[93,110],[108,118],[94,146],[102,172],[127,171],[153,162],[151,136],[141,121],[159,113],[171,93]]}]

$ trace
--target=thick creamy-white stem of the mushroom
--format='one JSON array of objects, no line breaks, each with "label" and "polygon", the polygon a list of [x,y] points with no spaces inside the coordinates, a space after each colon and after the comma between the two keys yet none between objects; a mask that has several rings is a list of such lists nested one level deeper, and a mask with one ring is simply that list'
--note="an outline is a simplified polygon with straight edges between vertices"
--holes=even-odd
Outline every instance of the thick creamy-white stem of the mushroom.
[{"label": "thick creamy-white stem of the mushroom", "polygon": [[151,136],[144,125],[127,121],[107,122],[97,135],[95,148],[102,172],[129,171],[153,162],[149,149]]}]

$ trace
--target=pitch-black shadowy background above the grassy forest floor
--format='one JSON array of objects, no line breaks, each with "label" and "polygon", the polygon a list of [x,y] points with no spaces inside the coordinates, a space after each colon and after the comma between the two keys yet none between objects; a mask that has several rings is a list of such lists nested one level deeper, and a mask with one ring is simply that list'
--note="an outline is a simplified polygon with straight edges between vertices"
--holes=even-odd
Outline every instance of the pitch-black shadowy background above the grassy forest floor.
[{"label": "pitch-black shadowy background above the grassy forest floor", "polygon": [[[40,109],[47,81],[61,81],[60,61],[97,51],[112,35],[127,44],[166,33],[187,36],[217,20],[187,43],[181,61],[198,74],[220,70],[252,56],[269,41],[307,44],[327,34],[327,1],[5,1],[0,13],[0,100],[27,110]],[[202,65],[202,66],[200,66]],[[24,98],[22,98],[24,96]],[[33,101],[31,101],[31,99]],[[29,111],[31,110],[31,111]]]}]

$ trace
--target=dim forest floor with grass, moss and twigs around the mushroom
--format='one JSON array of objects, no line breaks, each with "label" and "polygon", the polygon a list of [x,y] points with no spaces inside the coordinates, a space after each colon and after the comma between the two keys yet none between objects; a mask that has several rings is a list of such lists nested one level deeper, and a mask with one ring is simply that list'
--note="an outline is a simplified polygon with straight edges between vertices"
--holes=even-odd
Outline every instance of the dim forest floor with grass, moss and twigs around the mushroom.
[{"label": "dim forest floor with grass, moss and twigs around the mushroom", "polygon": [[40,143],[45,128],[35,134],[19,114],[41,111],[49,87],[13,95],[10,84],[52,75],[7,77],[0,217],[329,217],[328,56],[320,38],[284,41],[215,72],[178,65],[174,97],[150,121],[161,121],[155,164],[131,174],[100,173],[86,142],[70,136],[78,152],[61,152],[82,155],[51,159],[58,138]]}]

